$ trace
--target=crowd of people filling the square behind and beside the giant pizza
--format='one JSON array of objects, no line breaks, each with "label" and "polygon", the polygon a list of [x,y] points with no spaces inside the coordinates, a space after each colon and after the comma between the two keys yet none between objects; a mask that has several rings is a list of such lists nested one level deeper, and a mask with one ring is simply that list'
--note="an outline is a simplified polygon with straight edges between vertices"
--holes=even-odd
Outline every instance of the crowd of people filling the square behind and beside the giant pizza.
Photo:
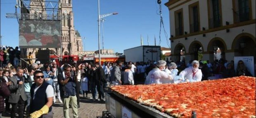
[{"label": "crowd of people filling the square behind and beside the giant pizza", "polygon": [[[4,52],[9,55],[20,53],[16,48],[12,48],[10,53],[6,50]],[[147,63],[116,61],[104,62],[103,65],[63,64],[60,67],[55,61],[49,64],[36,61],[24,68],[17,65],[14,58],[7,62],[4,60],[6,66],[2,66],[0,71],[0,112],[10,112],[11,118],[15,118],[16,113],[19,118],[52,118],[52,104],[55,102],[63,104],[65,118],[69,118],[69,108],[73,117],[78,118],[79,94],[83,94],[82,99],[105,101],[104,88],[107,86],[199,82],[208,80],[213,74],[221,74],[223,78],[251,76],[242,60],[238,61],[235,73],[234,61],[228,63],[225,60],[213,63],[191,60],[189,64],[164,60]],[[92,94],[91,98],[88,93]]]}]

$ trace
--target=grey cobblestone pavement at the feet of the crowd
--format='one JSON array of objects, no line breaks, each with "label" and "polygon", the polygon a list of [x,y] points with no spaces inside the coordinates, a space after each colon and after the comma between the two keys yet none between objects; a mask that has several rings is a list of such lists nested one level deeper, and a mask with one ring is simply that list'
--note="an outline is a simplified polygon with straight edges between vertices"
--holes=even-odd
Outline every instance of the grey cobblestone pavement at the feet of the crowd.
[{"label": "grey cobblestone pavement at the feet of the crowd", "polygon": [[[104,89],[104,92],[110,92],[109,88]],[[91,93],[88,93],[88,98],[92,97]],[[79,118],[101,118],[102,111],[107,111],[105,106],[105,101],[90,100],[88,98],[83,98],[83,95],[80,95],[80,108],[78,108]],[[63,107],[62,104],[55,102],[55,105],[52,107],[53,118],[64,118],[63,116]],[[73,118],[72,109],[69,109],[69,116]],[[1,118],[10,118],[10,114],[3,113]]]}]

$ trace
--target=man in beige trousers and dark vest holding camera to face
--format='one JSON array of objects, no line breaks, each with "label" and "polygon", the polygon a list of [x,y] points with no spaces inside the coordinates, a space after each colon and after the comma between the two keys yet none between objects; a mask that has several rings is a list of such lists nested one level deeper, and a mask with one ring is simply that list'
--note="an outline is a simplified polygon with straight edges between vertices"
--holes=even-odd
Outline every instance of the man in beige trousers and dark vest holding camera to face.
[{"label": "man in beige trousers and dark vest holding camera to face", "polygon": [[65,64],[63,72],[58,74],[58,82],[60,88],[60,95],[63,99],[63,113],[64,118],[69,118],[69,103],[73,110],[73,118],[78,118],[78,105],[76,98],[76,82],[77,79],[71,74],[71,66]]}]

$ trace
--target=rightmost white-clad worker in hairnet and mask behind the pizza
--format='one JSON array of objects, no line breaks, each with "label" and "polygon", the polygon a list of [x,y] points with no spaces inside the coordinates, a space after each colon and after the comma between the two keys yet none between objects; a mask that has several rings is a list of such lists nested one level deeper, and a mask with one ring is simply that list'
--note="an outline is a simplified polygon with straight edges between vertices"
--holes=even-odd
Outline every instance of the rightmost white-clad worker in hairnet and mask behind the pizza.
[{"label": "rightmost white-clad worker in hairnet and mask behind the pizza", "polygon": [[183,82],[200,82],[202,79],[202,71],[199,69],[199,61],[192,61],[192,66],[185,68],[180,72]]}]

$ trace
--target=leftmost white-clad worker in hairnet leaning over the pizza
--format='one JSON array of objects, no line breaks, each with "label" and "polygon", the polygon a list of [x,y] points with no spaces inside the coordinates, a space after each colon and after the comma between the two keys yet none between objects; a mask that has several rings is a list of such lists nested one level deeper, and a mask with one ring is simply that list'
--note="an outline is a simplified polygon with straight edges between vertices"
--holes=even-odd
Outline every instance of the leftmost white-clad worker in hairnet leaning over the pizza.
[{"label": "leftmost white-clad worker in hairnet leaning over the pizza", "polygon": [[145,84],[165,84],[166,82],[172,81],[173,76],[164,72],[166,61],[157,61],[157,68],[154,68],[149,72],[146,77]]}]

